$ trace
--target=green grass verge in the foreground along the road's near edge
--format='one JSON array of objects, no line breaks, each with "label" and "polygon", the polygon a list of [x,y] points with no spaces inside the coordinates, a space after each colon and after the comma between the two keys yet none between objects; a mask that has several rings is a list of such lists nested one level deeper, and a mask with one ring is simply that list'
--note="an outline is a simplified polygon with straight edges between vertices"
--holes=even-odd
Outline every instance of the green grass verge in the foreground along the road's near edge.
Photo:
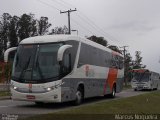
[{"label": "green grass verge in the foreground along the road's near edge", "polygon": [[134,97],[73,107],[59,112],[33,116],[25,120],[105,120],[115,114],[159,114],[160,91]]}]

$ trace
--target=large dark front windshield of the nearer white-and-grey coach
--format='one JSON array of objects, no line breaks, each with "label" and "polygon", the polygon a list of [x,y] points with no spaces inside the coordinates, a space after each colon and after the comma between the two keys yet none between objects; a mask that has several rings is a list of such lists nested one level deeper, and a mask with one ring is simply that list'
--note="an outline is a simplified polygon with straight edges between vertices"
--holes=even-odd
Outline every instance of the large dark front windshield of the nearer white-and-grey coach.
[{"label": "large dark front windshield of the nearer white-and-grey coach", "polygon": [[13,63],[12,79],[26,83],[57,80],[60,75],[57,52],[62,45],[20,45]]}]

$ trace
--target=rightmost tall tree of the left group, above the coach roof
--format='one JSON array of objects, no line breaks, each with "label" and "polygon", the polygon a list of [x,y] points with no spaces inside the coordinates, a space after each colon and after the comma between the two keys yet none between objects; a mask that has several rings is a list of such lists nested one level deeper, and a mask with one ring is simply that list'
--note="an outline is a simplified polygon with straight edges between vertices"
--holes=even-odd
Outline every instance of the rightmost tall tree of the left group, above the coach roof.
[{"label": "rightmost tall tree of the left group, above the coach roof", "polygon": [[48,29],[51,24],[48,22],[48,17],[41,17],[38,20],[38,35],[44,35],[48,33]]}]

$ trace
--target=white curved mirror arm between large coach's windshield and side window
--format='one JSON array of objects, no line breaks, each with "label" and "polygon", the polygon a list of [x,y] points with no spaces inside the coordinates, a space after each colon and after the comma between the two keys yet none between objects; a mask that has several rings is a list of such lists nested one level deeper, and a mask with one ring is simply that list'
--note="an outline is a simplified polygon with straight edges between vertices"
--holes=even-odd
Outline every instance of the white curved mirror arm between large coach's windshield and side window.
[{"label": "white curved mirror arm between large coach's windshield and side window", "polygon": [[58,54],[57,54],[57,61],[60,62],[63,60],[63,54],[65,52],[65,50],[67,50],[68,48],[71,48],[72,45],[63,45],[59,48],[58,50]]}]

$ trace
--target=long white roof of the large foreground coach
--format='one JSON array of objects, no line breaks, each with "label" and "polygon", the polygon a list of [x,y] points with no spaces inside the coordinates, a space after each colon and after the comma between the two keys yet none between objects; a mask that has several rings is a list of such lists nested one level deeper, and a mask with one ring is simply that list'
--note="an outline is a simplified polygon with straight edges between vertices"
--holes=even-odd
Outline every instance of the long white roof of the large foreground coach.
[{"label": "long white roof of the large foreground coach", "polygon": [[[112,51],[111,49],[97,44],[91,40],[88,40],[86,38],[82,38],[79,36],[73,36],[73,35],[44,35],[44,36],[35,36],[35,37],[29,37],[20,42],[20,44],[37,44],[37,43],[54,43],[54,42],[63,42],[63,41],[68,41],[68,40],[74,40],[78,42],[83,42],[88,45],[94,46],[96,48],[112,52],[116,55],[122,56],[120,53]],[[123,56],[122,56],[123,57]]]}]

